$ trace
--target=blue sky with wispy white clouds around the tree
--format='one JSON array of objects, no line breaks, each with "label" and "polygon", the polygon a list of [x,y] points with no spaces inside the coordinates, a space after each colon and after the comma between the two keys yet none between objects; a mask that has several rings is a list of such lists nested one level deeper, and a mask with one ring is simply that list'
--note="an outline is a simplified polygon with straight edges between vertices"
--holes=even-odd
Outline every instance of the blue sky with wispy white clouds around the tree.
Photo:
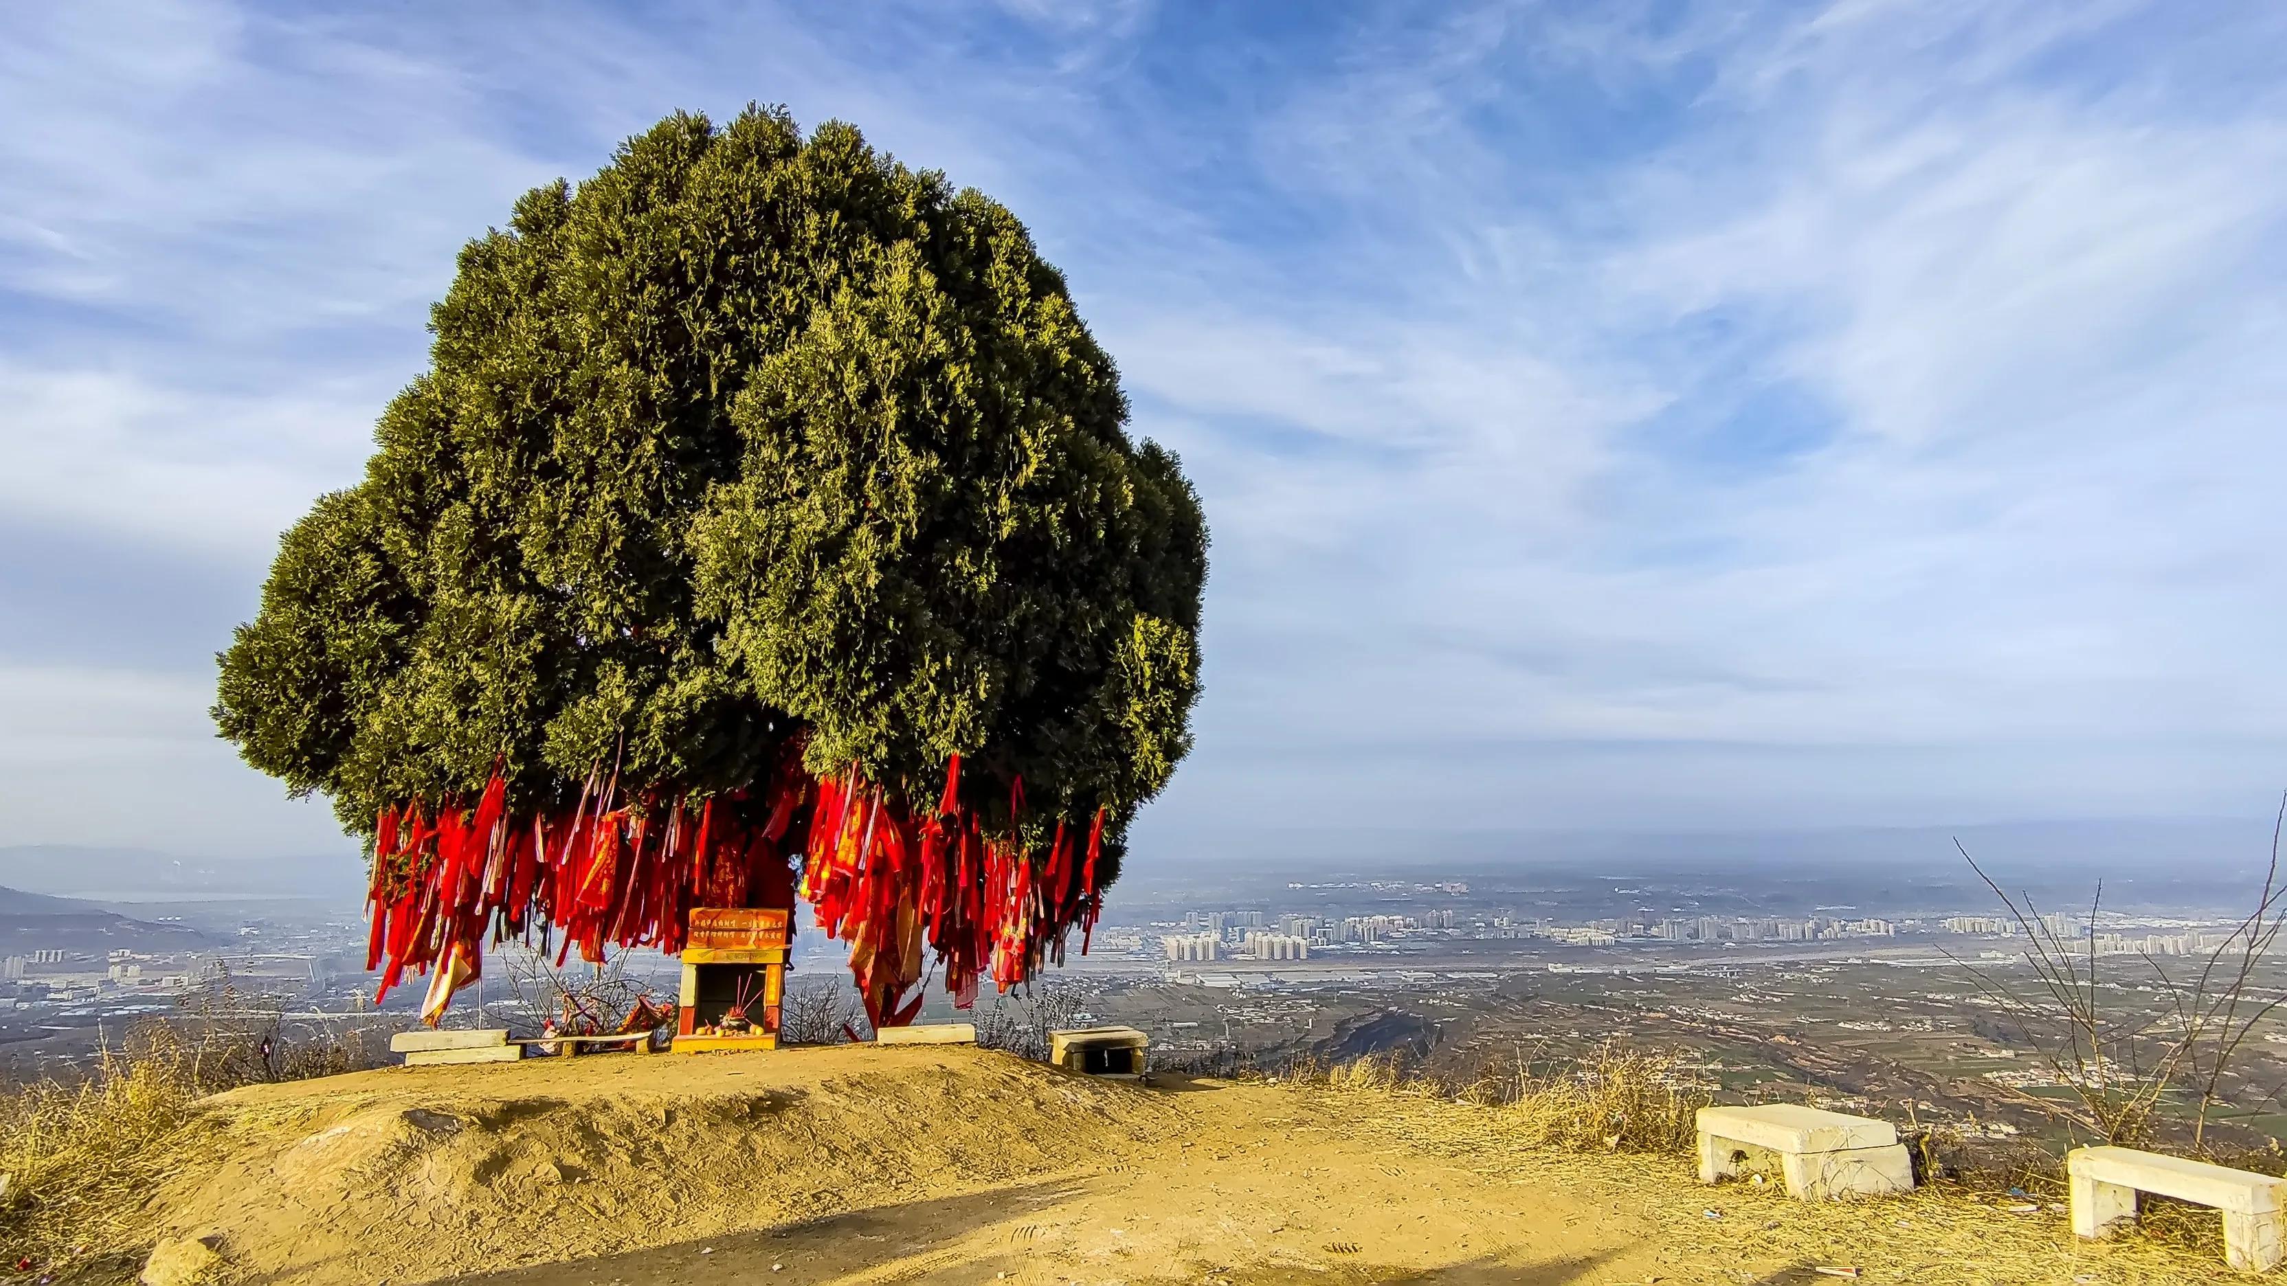
[{"label": "blue sky with wispy white clouds around the tree", "polygon": [[0,43],[5,842],[332,849],[213,739],[455,247],[784,103],[1025,217],[1214,529],[1141,838],[2253,815],[2287,7],[43,5]]}]

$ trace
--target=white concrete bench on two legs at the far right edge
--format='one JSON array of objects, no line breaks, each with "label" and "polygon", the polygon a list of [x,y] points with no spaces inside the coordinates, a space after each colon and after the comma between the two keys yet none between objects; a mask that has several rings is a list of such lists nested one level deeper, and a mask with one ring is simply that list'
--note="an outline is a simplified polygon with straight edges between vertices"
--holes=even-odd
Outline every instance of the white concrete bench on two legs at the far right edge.
[{"label": "white concrete bench on two legs at the far right edge", "polygon": [[2152,1192],[2223,1210],[2223,1263],[2248,1272],[2278,1268],[2287,1178],[2136,1149],[2072,1149],[2072,1231],[2099,1238],[2136,1222],[2136,1194]]}]

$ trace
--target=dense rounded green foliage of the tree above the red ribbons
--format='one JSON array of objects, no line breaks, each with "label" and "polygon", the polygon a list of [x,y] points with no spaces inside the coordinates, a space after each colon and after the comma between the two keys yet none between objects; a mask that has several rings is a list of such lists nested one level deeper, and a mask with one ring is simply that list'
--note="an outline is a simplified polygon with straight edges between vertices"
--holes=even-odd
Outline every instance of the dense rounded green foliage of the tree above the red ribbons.
[{"label": "dense rounded green foliage of the tree above the red ribbons", "polygon": [[807,735],[1116,842],[1189,748],[1198,499],[990,199],[677,114],[469,243],[432,330],[220,657],[222,735],[352,831],[494,762],[519,810],[615,762],[727,792]]}]

